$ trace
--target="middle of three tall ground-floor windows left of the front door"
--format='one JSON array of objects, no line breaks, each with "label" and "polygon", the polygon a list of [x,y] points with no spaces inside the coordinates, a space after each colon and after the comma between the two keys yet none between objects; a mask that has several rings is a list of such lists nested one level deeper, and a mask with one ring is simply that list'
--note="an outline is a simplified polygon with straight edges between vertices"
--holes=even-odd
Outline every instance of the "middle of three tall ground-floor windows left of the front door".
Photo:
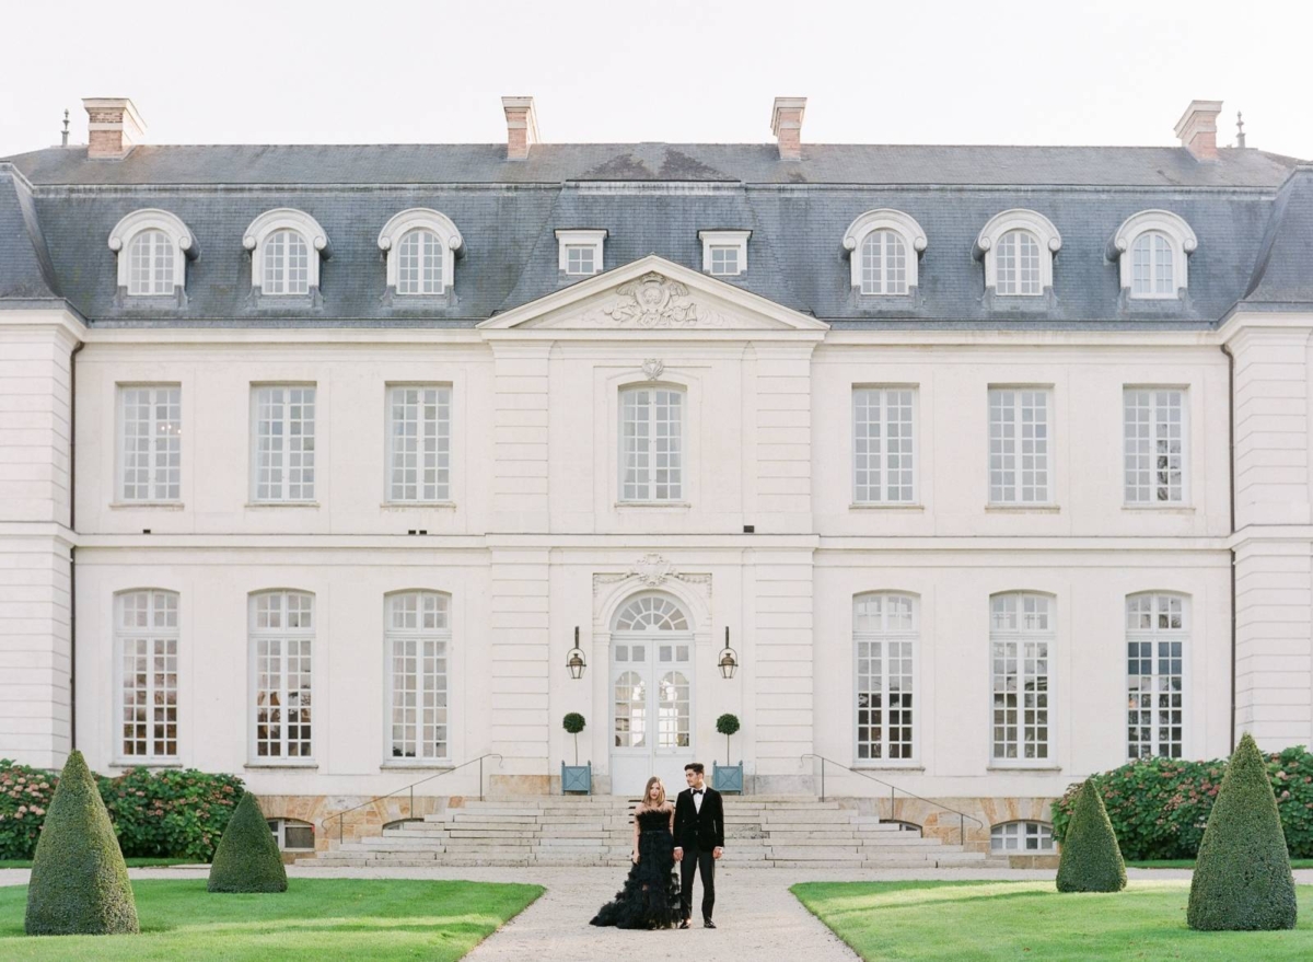
[{"label": "middle of three tall ground-floor windows left of the front door", "polygon": [[314,595],[268,591],[251,598],[255,758],[305,760],[311,740]]}]

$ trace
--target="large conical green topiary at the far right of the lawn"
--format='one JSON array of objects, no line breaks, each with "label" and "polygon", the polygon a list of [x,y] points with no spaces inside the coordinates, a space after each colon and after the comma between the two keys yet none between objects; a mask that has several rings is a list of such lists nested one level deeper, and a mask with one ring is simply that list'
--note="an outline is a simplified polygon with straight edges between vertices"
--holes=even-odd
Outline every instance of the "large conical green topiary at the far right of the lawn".
[{"label": "large conical green topiary at the far right of the lawn", "polygon": [[1190,928],[1293,929],[1295,877],[1263,756],[1245,733],[1217,791],[1190,882]]}]

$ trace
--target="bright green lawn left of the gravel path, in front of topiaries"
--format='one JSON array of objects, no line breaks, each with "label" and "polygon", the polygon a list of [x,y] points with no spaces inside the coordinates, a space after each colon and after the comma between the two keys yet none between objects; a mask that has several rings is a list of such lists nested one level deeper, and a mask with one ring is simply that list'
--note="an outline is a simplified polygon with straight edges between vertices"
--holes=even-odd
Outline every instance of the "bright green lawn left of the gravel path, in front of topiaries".
[{"label": "bright green lawn left of the gravel path, in front of topiaries", "polygon": [[134,882],[140,936],[22,932],[26,886],[0,888],[5,959],[458,959],[540,886],[393,879],[289,881],[280,895],[211,895],[205,879]]}]

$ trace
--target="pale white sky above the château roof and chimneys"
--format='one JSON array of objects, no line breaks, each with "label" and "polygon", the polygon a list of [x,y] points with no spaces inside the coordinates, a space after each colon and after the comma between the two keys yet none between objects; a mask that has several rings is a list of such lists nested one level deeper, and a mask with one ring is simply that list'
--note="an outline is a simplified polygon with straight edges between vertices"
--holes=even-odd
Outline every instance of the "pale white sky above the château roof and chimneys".
[{"label": "pale white sky above the ch\u00e2teau roof and chimneys", "polygon": [[[1006,13],[1003,12],[1006,11]],[[85,143],[127,96],[148,143],[490,143],[502,95],[545,142],[1174,145],[1194,100],[1313,158],[1304,0],[0,0],[0,156]]]}]

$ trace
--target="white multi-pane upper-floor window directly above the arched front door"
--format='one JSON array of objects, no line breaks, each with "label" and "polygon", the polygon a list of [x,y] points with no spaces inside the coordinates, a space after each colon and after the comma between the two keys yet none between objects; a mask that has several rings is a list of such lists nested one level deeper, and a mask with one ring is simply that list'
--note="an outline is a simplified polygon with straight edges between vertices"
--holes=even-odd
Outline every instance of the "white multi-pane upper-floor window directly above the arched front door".
[{"label": "white multi-pane upper-floor window directly above the arched front door", "polygon": [[678,388],[621,392],[621,501],[679,501],[683,478],[684,392]]}]

